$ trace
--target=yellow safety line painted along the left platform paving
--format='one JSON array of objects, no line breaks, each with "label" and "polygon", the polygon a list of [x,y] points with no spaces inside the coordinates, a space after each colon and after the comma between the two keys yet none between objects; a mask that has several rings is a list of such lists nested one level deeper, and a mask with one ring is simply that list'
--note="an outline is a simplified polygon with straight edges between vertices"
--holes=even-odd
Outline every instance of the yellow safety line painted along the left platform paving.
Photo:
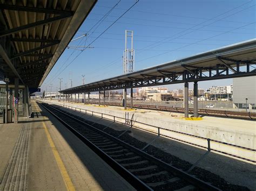
[{"label": "yellow safety line painted along the left platform paving", "polygon": [[72,183],[72,181],[71,181],[71,179],[70,179],[70,177],[69,177],[68,172],[66,171],[65,165],[63,164],[63,161],[60,158],[60,155],[59,155],[59,153],[57,151],[57,148],[55,147],[55,144],[53,143],[51,135],[50,135],[50,133],[49,133],[49,131],[48,131],[48,129],[47,129],[47,127],[46,127],[44,122],[43,122],[43,125],[44,125],[44,130],[45,130],[46,136],[48,138],[48,142],[49,142],[49,144],[51,146],[51,150],[52,150],[53,155],[55,157],[55,160],[56,160],[56,162],[58,164],[60,173],[62,173],[62,178],[63,178],[63,180],[65,182],[66,189],[67,190],[76,190],[74,185],[73,185],[73,183]]}]

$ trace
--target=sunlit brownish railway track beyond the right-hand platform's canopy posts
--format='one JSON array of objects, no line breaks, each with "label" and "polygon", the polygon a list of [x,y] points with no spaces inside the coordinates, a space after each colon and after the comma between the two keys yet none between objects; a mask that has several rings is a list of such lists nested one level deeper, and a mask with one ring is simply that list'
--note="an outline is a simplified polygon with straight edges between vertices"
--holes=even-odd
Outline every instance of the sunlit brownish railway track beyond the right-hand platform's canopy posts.
[{"label": "sunlit brownish railway track beyond the right-hand platform's canopy posts", "polygon": [[[88,102],[86,102],[86,103],[88,103]],[[91,104],[99,104],[99,102],[90,102],[90,103]],[[122,104],[114,103],[114,102],[105,103],[105,105],[113,105],[113,106],[122,107]],[[127,107],[130,107],[130,103],[127,103]],[[167,107],[167,106],[159,106],[159,105],[133,104],[133,108],[184,113],[184,108]],[[189,108],[188,112],[189,112],[189,114],[193,114],[193,108]],[[207,116],[216,116],[216,117],[256,120],[255,112],[226,111],[226,110],[215,110],[215,109],[198,109],[198,114],[199,115],[207,115]]]}]

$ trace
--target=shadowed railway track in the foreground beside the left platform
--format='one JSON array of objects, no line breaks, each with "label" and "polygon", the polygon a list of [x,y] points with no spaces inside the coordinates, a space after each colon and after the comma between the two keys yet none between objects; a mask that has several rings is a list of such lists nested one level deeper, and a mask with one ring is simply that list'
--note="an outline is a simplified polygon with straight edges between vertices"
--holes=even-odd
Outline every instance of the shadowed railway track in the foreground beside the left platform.
[{"label": "shadowed railway track in the foreground beside the left platform", "polygon": [[220,190],[129,145],[93,122],[39,103],[139,190]]}]

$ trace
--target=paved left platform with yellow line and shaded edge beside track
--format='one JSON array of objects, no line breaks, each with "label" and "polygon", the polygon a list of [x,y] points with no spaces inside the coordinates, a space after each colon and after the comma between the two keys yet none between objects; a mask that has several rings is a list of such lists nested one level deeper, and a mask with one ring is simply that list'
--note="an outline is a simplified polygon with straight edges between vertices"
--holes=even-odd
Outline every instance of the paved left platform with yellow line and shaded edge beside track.
[{"label": "paved left platform with yellow line and shaded edge beside track", "polygon": [[32,103],[33,118],[0,124],[0,190],[133,190],[89,147]]}]

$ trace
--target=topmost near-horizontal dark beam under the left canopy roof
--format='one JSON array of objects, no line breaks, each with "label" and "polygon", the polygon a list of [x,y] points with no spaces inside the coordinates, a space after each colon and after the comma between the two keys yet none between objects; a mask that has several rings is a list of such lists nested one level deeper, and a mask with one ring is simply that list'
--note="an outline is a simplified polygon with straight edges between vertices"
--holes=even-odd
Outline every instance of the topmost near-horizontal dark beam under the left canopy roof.
[{"label": "topmost near-horizontal dark beam under the left canopy roof", "polygon": [[49,13],[49,14],[56,14],[56,15],[73,15],[72,11],[48,9],[48,8],[35,8],[32,6],[0,4],[0,7],[1,9],[4,9],[4,10],[13,10],[13,11],[41,12],[41,13]]}]

